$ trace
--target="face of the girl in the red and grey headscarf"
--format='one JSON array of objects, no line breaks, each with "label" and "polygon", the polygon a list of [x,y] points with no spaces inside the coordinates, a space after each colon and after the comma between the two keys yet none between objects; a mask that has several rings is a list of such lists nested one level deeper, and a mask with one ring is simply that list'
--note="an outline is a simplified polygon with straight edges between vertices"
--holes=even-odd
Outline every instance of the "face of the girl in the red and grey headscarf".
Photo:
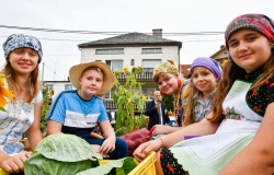
[{"label": "face of the girl in the red and grey headscarf", "polygon": [[271,57],[271,44],[262,34],[252,30],[239,30],[228,40],[233,61],[247,72],[263,66]]}]

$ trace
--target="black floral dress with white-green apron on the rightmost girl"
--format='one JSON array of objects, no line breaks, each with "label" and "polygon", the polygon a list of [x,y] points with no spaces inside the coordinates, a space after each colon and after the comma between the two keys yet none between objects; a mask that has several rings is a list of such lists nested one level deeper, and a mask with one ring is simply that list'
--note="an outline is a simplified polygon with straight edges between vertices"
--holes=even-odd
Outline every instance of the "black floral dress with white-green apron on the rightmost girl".
[{"label": "black floral dress with white-green apron on the rightmost girl", "polygon": [[235,81],[222,103],[226,116],[214,135],[179,142],[162,149],[164,174],[216,175],[253,139],[269,104],[274,103],[274,77],[250,90],[263,69]]}]

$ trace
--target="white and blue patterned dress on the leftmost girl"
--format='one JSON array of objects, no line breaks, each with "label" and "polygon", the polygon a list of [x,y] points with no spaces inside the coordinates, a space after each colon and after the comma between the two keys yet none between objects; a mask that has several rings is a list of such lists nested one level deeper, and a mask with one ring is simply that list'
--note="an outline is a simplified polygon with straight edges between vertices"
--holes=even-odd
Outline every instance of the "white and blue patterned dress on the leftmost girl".
[{"label": "white and blue patterned dress on the leftmost girl", "polygon": [[34,121],[35,104],[42,102],[43,95],[39,91],[31,103],[20,98],[7,100],[5,112],[0,112],[0,151],[9,155],[23,153],[24,145],[20,142],[23,133]]}]

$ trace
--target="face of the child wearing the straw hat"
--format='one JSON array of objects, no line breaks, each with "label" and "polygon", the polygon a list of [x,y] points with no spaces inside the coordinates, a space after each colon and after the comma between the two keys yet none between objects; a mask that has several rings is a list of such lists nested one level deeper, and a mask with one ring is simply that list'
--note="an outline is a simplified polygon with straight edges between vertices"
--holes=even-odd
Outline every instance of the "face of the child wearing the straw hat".
[{"label": "face of the child wearing the straw hat", "polygon": [[103,86],[103,73],[96,69],[88,69],[82,73],[80,84],[84,95],[95,95]]}]

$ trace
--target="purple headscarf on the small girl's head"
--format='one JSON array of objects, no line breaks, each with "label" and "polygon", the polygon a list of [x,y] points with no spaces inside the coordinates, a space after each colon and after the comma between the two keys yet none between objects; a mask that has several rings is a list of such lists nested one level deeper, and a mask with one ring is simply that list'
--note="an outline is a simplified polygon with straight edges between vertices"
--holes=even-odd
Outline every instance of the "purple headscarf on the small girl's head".
[{"label": "purple headscarf on the small girl's head", "polygon": [[209,69],[218,80],[221,79],[221,68],[218,65],[218,62],[212,58],[208,58],[208,57],[196,58],[191,65],[191,72],[193,71],[193,68],[195,67],[205,67]]}]

